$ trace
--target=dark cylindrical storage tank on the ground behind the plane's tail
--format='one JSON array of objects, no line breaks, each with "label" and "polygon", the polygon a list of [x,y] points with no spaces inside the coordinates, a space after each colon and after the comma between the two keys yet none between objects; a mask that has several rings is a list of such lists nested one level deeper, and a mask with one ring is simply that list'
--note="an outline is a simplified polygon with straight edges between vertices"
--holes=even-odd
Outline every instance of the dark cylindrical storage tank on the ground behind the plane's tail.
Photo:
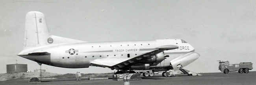
[{"label": "dark cylindrical storage tank on the ground behind the plane's tail", "polygon": [[18,73],[18,72],[27,72],[28,65],[27,64],[8,64],[6,65],[7,73]]}]

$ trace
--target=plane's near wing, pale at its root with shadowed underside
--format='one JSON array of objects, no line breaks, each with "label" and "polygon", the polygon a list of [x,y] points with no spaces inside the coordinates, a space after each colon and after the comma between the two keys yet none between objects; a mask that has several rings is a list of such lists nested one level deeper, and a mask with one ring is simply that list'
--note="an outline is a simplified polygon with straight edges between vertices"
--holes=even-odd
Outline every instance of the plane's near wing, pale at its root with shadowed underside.
[{"label": "plane's near wing, pale at its root with shadowed underside", "polygon": [[160,53],[165,50],[173,50],[176,48],[178,48],[178,46],[176,45],[160,46],[155,48],[155,50],[153,51],[140,54],[134,58],[121,58],[121,57],[99,58],[99,59],[93,60],[91,62],[91,65],[98,66],[98,67],[109,67],[109,68],[119,69],[119,68],[128,66],[130,64],[133,64],[139,60],[151,58],[151,55],[154,55],[156,53]]}]

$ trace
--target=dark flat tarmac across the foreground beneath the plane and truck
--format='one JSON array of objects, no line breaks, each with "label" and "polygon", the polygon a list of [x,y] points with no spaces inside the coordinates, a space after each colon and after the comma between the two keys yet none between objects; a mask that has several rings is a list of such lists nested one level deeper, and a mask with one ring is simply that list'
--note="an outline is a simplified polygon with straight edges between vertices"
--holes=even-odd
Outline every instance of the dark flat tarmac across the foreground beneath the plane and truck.
[{"label": "dark flat tarmac across the foreground beneath the plane and truck", "polygon": [[[256,71],[242,74],[237,72],[201,74],[202,76],[147,77],[130,81],[130,85],[256,85]],[[123,81],[105,79],[28,83],[28,80],[9,80],[0,81],[0,85],[123,85]]]}]

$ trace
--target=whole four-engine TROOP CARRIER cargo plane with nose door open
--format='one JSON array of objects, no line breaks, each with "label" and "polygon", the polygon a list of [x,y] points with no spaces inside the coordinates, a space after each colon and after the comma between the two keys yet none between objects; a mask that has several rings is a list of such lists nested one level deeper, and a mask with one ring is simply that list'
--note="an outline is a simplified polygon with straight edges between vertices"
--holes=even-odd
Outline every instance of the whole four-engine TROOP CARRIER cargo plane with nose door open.
[{"label": "whole four-engine TROOP CARRIER cargo plane with nose door open", "polygon": [[108,67],[116,73],[134,70],[179,70],[200,55],[182,39],[86,42],[51,35],[43,13],[26,14],[24,49],[18,56],[39,65],[63,68]]}]

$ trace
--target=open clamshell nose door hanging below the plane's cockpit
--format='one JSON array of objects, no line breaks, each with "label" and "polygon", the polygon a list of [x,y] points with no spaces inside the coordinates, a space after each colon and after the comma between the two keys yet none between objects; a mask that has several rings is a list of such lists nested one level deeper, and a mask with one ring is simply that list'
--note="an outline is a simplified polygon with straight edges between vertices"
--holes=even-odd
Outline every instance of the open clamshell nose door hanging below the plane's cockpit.
[{"label": "open clamshell nose door hanging below the plane's cockpit", "polygon": [[187,66],[188,64],[194,62],[195,60],[197,60],[197,58],[199,58],[200,55],[198,53],[195,52],[191,52],[191,53],[187,53],[185,55],[182,55],[178,58],[175,58],[173,60],[171,60],[171,67],[174,70],[179,70],[182,67]]}]

